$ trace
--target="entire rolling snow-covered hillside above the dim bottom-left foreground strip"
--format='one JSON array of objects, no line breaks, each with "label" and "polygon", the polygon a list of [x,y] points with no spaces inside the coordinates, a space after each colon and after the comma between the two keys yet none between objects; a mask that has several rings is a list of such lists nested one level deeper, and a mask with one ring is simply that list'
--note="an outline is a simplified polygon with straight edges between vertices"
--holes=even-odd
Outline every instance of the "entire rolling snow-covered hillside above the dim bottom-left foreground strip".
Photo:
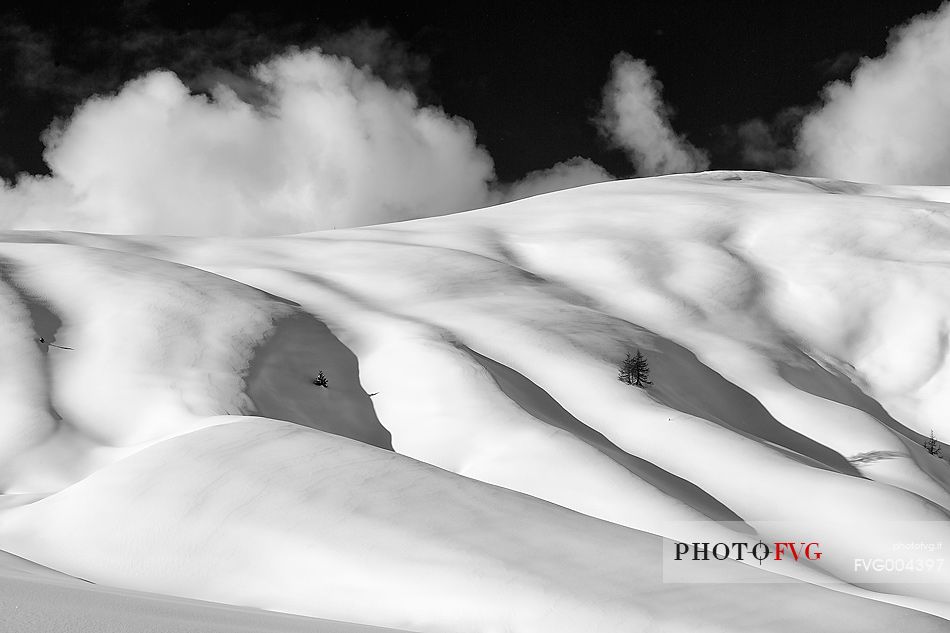
[{"label": "entire rolling snow-covered hillside above the dim bottom-left foreground strip", "polygon": [[[279,238],[3,234],[0,549],[409,630],[948,630],[950,565],[849,576],[950,548],[920,446],[950,439],[945,197],[713,172]],[[662,581],[659,537],[776,522],[828,553]]]}]

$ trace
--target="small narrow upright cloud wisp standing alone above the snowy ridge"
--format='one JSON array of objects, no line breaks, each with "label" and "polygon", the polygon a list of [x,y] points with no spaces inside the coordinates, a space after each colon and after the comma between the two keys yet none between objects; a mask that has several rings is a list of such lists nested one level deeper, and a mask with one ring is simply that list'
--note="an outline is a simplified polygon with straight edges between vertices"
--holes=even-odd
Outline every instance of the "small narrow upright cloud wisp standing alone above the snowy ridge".
[{"label": "small narrow upright cloud wisp standing alone above the snowy ridge", "polygon": [[614,57],[598,119],[601,131],[627,152],[639,176],[705,169],[706,154],[673,131],[662,90],[646,62],[627,53]]}]

